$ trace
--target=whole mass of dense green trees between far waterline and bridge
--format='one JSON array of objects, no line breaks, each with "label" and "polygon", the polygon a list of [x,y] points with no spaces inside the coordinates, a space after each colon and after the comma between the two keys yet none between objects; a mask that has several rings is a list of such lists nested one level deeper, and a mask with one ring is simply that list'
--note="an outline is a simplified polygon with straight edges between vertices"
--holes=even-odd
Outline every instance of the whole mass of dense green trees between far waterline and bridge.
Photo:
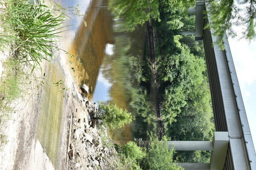
[{"label": "whole mass of dense green trees between far waterline and bridge", "polygon": [[[167,12],[161,13],[161,22],[155,24],[165,133],[172,140],[212,140],[214,123],[204,47],[201,42],[195,42],[194,36],[177,35],[177,29],[192,28],[189,25],[194,18],[184,20],[182,10]],[[175,158],[181,162],[203,163],[209,162],[210,153],[179,151]]]}]

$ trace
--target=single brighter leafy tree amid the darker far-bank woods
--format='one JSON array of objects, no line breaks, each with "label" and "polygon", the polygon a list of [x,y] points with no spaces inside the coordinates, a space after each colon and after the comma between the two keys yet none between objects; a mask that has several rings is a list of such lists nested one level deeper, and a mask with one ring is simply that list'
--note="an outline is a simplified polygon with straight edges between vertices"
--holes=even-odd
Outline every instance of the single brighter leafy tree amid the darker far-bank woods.
[{"label": "single brighter leafy tree amid the darker far-bank woods", "polygon": [[166,55],[159,63],[160,80],[165,88],[163,94],[163,119],[171,124],[186,105],[190,91],[203,81],[204,59],[195,57],[186,45],[177,46],[177,52]]}]

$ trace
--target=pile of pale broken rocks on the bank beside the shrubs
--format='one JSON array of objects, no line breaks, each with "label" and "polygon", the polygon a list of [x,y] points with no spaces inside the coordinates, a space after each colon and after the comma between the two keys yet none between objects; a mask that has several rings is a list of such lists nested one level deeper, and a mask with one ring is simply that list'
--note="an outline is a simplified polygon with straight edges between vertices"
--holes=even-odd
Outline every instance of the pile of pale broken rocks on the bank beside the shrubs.
[{"label": "pile of pale broken rocks on the bank beside the shrubs", "polygon": [[110,157],[113,157],[115,151],[102,146],[96,120],[92,119],[96,112],[95,104],[88,102],[85,105],[88,116],[74,116],[72,121],[68,167],[72,170],[108,170],[108,159],[113,159]]}]

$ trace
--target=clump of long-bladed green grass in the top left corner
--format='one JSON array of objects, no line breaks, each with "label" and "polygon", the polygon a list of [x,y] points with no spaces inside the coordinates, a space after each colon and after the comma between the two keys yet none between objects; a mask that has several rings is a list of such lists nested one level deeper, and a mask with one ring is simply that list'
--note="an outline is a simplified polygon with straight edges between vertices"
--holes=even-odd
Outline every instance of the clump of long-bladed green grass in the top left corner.
[{"label": "clump of long-bladed green grass in the top left corner", "polygon": [[[5,0],[1,9],[0,44],[14,45],[18,59],[26,65],[40,64],[52,57],[55,40],[64,22],[63,13],[55,14],[55,5],[48,7],[44,1]],[[61,11],[61,10],[60,10]]]}]

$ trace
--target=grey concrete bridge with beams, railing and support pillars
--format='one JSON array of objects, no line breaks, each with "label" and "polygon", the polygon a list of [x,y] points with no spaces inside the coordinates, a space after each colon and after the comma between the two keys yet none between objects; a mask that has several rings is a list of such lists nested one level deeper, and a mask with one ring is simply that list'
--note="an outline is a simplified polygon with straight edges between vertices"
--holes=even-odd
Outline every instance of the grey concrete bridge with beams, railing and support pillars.
[{"label": "grey concrete bridge with beams, railing and support pillars", "polygon": [[256,170],[256,153],[230,46],[227,37],[223,39],[225,50],[213,45],[219,37],[213,36],[214,30],[204,29],[211,22],[211,16],[203,14],[208,9],[209,4],[204,1],[189,8],[196,16],[195,30],[181,34],[195,34],[196,41],[204,42],[215,119],[214,140],[169,143],[176,150],[212,150],[209,164],[180,163],[185,170]]}]

